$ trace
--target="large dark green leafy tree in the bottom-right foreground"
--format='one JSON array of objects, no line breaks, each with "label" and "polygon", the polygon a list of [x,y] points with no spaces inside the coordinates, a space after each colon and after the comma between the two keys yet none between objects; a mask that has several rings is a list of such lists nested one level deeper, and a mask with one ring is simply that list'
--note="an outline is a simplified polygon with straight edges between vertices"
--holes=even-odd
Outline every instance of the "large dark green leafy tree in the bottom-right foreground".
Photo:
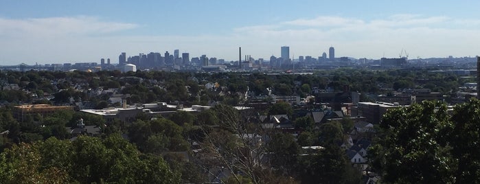
[{"label": "large dark green leafy tree in the bottom-right foreground", "polygon": [[[392,109],[380,123],[384,134],[374,141],[369,151],[372,168],[380,172],[382,181],[387,183],[456,183],[468,176],[474,176],[478,181],[478,175],[475,175],[480,171],[478,165],[469,168],[468,172],[461,170],[462,166],[459,165],[461,158],[469,154],[464,150],[455,154],[455,148],[465,143],[456,142],[461,136],[458,133],[470,135],[470,130],[461,130],[459,126],[469,124],[480,115],[466,107],[473,110],[479,107],[478,101],[455,108],[451,118],[459,125],[450,120],[446,105],[437,102]],[[470,111],[471,114],[462,114],[460,111]],[[463,122],[461,120],[466,122],[460,123]],[[472,130],[476,131],[475,128]],[[478,138],[478,134],[477,137],[471,136],[468,139]],[[470,150],[478,152],[479,149]],[[470,157],[468,162],[479,161],[479,157],[475,157]],[[474,178],[468,182],[475,181]]]}]

